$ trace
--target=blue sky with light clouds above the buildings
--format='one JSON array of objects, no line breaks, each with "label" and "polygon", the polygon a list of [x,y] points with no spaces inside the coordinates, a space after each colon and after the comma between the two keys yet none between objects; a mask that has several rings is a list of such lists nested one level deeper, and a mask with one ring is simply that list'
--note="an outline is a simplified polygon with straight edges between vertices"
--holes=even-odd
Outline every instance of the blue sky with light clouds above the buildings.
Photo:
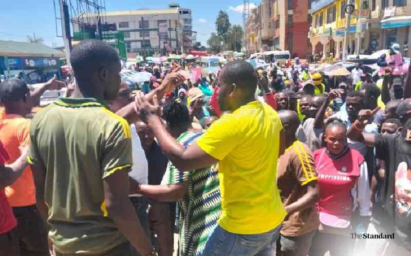
[{"label": "blue sky with light clouds above the buildings", "polygon": [[[58,8],[59,0],[54,0]],[[241,0],[105,0],[107,11],[135,10],[140,8],[167,8],[170,3],[178,3],[181,8],[191,8],[193,30],[197,40],[206,46],[207,39],[215,32],[215,19],[219,10],[228,13],[232,25],[242,25]],[[255,4],[250,3],[250,7]],[[57,9],[58,16],[60,11]],[[56,28],[57,27],[57,28]],[[60,20],[55,21],[53,0],[12,0],[2,6],[0,12],[0,40],[27,41],[27,35],[42,37],[47,46],[63,46]]]}]

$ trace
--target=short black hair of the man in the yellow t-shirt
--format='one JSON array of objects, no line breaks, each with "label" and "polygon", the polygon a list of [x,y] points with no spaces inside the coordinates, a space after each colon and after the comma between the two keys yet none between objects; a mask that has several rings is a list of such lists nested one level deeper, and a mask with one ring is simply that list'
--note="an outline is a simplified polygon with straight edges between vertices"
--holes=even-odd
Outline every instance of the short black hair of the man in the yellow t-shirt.
[{"label": "short black hair of the man in the yellow t-shirt", "polygon": [[220,74],[222,81],[231,84],[235,83],[238,87],[246,89],[254,94],[257,88],[257,73],[253,66],[245,60],[234,60],[228,62]]}]

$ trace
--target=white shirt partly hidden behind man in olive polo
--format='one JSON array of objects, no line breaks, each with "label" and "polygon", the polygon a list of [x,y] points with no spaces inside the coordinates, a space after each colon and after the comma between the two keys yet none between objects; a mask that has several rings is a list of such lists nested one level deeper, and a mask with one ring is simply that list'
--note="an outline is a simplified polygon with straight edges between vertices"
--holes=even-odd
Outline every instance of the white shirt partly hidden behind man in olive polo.
[{"label": "white shirt partly hidden behind man in olive polo", "polygon": [[134,124],[130,125],[130,132],[132,134],[133,166],[131,172],[128,173],[128,177],[140,184],[148,184],[148,163]]}]

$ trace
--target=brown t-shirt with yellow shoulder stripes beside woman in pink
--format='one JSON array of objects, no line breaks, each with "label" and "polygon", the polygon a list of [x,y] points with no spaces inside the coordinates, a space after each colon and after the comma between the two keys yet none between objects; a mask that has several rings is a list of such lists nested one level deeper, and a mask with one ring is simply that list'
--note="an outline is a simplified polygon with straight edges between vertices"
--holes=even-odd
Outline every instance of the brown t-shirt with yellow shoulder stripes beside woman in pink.
[{"label": "brown t-shirt with yellow shoulder stripes beside woman in pink", "polygon": [[[303,197],[307,193],[305,185],[316,180],[317,173],[310,149],[306,144],[295,141],[279,157],[277,164],[277,186],[284,206]],[[281,234],[296,237],[317,229],[320,221],[315,206],[312,206],[288,215],[283,224]]]}]

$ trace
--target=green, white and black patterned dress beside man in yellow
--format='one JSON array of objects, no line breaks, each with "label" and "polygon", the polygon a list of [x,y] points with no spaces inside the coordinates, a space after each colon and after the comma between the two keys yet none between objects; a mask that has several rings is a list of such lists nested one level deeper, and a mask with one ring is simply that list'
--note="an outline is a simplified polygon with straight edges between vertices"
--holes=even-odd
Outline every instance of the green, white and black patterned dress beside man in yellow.
[{"label": "green, white and black patterned dress beside man in yellow", "polygon": [[[185,132],[177,139],[188,147],[201,133]],[[201,255],[221,216],[221,195],[217,165],[182,173],[171,163],[167,165],[161,184],[189,182],[188,191],[179,199],[180,232],[178,256]]]}]

